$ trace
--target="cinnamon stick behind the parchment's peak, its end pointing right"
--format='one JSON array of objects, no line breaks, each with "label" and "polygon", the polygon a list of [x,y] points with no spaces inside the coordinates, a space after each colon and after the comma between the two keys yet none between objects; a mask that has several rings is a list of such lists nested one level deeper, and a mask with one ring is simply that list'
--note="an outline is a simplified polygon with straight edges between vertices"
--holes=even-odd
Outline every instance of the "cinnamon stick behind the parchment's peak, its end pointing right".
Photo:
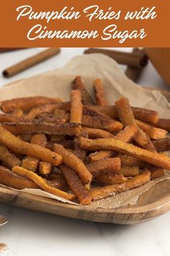
[{"label": "cinnamon stick behind the parchment's peak, its end pointing right", "polygon": [[100,48],[89,48],[84,54],[105,54],[115,59],[119,64],[125,64],[130,67],[145,67],[148,64],[148,57],[143,52],[127,53],[122,51],[111,51]]}]

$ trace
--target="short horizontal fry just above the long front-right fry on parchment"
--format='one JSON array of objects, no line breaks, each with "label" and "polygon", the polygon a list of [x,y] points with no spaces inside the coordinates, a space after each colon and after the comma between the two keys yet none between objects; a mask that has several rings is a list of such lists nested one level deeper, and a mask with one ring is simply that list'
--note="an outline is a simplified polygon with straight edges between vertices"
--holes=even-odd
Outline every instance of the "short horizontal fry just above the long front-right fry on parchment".
[{"label": "short horizontal fry just above the long front-right fry on parchment", "polygon": [[125,178],[122,174],[105,174],[100,175],[95,178],[97,182],[107,183],[107,184],[120,184],[123,182],[127,182],[127,178]]}]

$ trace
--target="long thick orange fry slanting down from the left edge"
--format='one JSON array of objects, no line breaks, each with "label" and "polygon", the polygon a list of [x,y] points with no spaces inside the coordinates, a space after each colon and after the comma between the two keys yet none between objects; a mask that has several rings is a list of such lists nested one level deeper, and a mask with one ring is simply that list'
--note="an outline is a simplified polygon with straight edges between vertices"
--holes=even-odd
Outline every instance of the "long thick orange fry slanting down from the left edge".
[{"label": "long thick orange fry slanting down from the left edge", "polygon": [[6,131],[0,126],[0,143],[5,145],[6,148],[19,153],[22,155],[34,156],[35,158],[40,158],[42,161],[51,163],[53,166],[58,166],[62,162],[61,155],[54,153],[47,148],[42,148],[39,145],[30,144],[19,140],[17,137],[12,135],[12,133]]}]

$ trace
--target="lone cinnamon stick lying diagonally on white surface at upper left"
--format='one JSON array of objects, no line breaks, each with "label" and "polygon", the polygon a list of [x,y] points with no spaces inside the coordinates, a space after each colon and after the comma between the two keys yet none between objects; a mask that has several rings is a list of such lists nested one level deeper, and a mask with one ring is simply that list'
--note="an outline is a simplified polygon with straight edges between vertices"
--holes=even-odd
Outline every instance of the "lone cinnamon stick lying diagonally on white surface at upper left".
[{"label": "lone cinnamon stick lying diagonally on white surface at upper left", "polygon": [[5,69],[2,74],[4,77],[12,77],[15,74],[22,72],[23,70],[28,69],[40,63],[41,61],[44,61],[45,59],[49,59],[50,57],[59,54],[60,51],[60,48],[48,48],[45,51],[41,51],[40,54],[36,54],[28,59],[24,59],[24,61],[21,61],[17,64],[14,64],[14,66]]}]

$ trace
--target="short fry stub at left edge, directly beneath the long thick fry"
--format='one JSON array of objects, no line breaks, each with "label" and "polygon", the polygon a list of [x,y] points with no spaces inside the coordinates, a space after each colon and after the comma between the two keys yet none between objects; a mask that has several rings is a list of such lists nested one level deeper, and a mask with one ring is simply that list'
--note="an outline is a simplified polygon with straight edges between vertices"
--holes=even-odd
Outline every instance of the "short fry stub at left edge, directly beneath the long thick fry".
[{"label": "short fry stub at left edge, directly beneath the long thick fry", "polygon": [[0,161],[8,168],[21,165],[19,158],[10,153],[9,150],[3,145],[0,145]]}]

